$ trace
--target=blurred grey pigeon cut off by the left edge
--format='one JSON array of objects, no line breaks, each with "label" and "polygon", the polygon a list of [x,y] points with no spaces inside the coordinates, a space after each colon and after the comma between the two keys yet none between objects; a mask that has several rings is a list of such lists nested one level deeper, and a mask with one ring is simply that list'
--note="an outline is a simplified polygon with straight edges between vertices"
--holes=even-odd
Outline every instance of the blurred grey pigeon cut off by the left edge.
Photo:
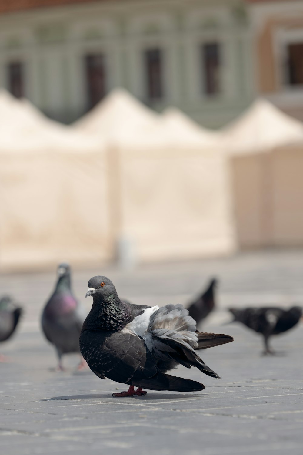
[{"label": "blurred grey pigeon cut off by the left edge", "polygon": [[[21,314],[22,308],[17,307],[12,298],[0,298],[0,341],[8,340],[15,332]],[[4,357],[0,356],[0,360],[3,359]]]}]

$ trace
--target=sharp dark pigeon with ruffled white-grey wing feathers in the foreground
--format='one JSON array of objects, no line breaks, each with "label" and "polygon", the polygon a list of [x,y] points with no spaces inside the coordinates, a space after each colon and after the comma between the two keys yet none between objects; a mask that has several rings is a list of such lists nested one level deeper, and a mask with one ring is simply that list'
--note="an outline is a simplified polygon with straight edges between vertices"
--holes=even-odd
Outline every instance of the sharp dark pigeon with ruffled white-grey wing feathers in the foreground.
[{"label": "sharp dark pigeon with ruffled white-grey wing feathers in the foreground", "polygon": [[180,304],[159,308],[122,302],[104,276],[90,278],[88,286],[85,297],[93,296],[93,305],[81,330],[80,351],[99,378],[129,385],[127,392],[114,397],[145,395],[143,388],[175,392],[205,388],[166,374],[178,364],[219,378],[195,350],[229,343],[232,337],[196,332],[194,319]]}]

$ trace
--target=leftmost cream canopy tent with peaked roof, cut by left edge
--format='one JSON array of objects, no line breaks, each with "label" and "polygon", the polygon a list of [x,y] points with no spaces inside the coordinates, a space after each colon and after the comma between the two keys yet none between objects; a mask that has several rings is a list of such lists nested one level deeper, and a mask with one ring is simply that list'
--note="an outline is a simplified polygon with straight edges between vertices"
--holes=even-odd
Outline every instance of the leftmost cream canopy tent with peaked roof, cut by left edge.
[{"label": "leftmost cream canopy tent with peaked roof, cut by left edge", "polygon": [[101,140],[0,93],[2,269],[109,258],[105,155]]}]

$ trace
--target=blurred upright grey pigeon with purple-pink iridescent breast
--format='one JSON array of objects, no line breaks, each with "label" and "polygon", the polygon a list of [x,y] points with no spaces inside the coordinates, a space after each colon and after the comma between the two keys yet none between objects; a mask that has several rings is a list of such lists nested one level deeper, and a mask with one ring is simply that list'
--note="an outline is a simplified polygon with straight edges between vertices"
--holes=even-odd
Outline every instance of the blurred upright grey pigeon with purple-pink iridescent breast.
[{"label": "blurred upright grey pigeon with purple-pink iridescent breast", "polygon": [[[42,313],[42,330],[46,339],[54,344],[58,354],[58,369],[63,370],[62,355],[79,353],[79,335],[85,319],[82,308],[70,289],[70,266],[58,266],[58,281]],[[84,368],[82,359],[79,369]]]}]

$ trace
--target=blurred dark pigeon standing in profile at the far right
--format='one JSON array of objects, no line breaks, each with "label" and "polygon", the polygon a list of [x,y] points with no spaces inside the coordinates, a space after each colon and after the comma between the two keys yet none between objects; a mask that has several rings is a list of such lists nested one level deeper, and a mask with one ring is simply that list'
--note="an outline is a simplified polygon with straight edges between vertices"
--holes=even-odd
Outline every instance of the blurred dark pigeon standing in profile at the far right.
[{"label": "blurred dark pigeon standing in profile at the far right", "polygon": [[233,321],[242,322],[249,329],[263,335],[265,347],[263,354],[274,354],[268,344],[272,335],[287,332],[298,324],[302,317],[301,307],[292,307],[287,310],[278,307],[229,308],[229,311],[233,315]]}]

